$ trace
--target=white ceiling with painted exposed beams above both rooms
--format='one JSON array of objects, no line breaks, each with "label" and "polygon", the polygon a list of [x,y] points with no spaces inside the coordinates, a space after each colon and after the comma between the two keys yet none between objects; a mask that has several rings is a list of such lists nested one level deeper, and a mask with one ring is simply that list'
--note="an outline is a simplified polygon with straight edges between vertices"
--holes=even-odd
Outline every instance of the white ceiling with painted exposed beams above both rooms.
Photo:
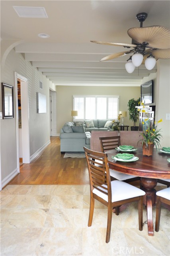
[{"label": "white ceiling with painted exposed beams above both rooms", "polygon": [[[44,7],[48,18],[20,18],[13,6]],[[141,79],[156,68],[148,71],[141,65],[128,74],[125,63],[129,55],[100,62],[125,48],[90,40],[131,43],[127,30],[140,26],[136,19],[139,12],[148,14],[143,26],[170,28],[169,0],[1,0],[0,12],[1,40],[23,40],[16,52],[55,85],[140,86]],[[39,38],[40,33],[50,37]]]}]

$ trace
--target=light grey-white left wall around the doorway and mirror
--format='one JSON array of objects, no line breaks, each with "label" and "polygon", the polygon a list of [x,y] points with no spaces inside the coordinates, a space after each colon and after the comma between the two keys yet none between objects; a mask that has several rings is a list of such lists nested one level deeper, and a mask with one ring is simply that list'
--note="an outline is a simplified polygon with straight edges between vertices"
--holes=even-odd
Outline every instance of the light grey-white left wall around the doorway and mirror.
[{"label": "light grey-white left wall around the doorway and mirror", "polygon": [[[0,152],[2,183],[8,180],[17,172],[17,139],[16,139],[16,95],[15,75],[17,72],[28,79],[29,90],[29,138],[30,158],[44,145],[50,142],[49,131],[49,88],[53,88],[52,82],[42,75],[30,62],[24,60],[22,54],[16,53],[13,49],[8,54],[4,66],[1,66],[1,81],[14,86],[14,118],[0,120]],[[39,88],[39,81],[43,82],[43,89]],[[46,95],[47,113],[37,113],[37,92]],[[0,90],[0,99],[2,92]],[[0,104],[2,111],[2,104]],[[9,161],[10,160],[10,161]]]}]

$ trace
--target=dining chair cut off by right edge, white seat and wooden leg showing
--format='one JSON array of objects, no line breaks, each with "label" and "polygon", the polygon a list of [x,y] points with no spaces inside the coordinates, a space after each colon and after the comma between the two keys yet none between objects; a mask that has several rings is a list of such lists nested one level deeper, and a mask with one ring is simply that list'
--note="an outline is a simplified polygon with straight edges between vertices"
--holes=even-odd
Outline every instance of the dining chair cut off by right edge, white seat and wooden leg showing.
[{"label": "dining chair cut off by right edge, white seat and wooden leg showing", "polygon": [[161,203],[170,205],[170,188],[164,188],[156,192],[156,232],[159,231]]}]

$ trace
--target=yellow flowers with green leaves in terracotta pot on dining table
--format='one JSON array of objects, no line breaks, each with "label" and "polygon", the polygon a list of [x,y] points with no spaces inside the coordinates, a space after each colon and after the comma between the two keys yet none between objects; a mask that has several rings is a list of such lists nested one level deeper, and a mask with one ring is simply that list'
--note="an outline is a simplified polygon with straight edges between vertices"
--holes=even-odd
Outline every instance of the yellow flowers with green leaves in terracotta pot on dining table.
[{"label": "yellow flowers with green leaves in terracotta pot on dining table", "polygon": [[[142,105],[143,105],[143,109],[142,110],[139,109],[139,111],[145,112],[147,114],[146,110],[144,109],[145,108],[144,103],[142,103]],[[160,122],[162,122],[162,118],[159,121],[157,121],[157,123],[160,123]],[[156,121],[154,121],[154,124],[152,125],[150,124],[149,118],[146,118],[145,122],[142,122],[142,124],[145,124],[146,126],[146,129],[143,130],[143,132],[141,133],[141,135],[143,136],[143,139],[139,140],[142,142],[142,146],[143,146],[143,143],[145,143],[147,147],[148,147],[148,144],[154,144],[156,148],[159,147],[160,138],[162,138],[162,135],[160,134],[161,129],[158,130],[157,126],[155,126]]]}]

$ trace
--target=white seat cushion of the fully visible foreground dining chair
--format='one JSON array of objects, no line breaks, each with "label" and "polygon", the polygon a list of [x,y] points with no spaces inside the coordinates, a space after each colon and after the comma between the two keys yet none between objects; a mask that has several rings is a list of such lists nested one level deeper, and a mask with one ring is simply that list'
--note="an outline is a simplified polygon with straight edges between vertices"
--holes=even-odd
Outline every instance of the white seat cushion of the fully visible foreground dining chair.
[{"label": "white seat cushion of the fully visible foreground dining chair", "polygon": [[[103,187],[107,188],[107,185],[103,184]],[[107,192],[104,188],[100,188],[101,190]],[[103,198],[106,202],[108,202],[108,196],[101,191],[94,188],[93,193],[97,196]],[[117,202],[120,200],[125,200],[128,198],[134,198],[137,196],[145,195],[145,192],[140,188],[136,188],[128,183],[125,183],[120,180],[111,181],[111,194],[112,194],[112,202]]]}]

